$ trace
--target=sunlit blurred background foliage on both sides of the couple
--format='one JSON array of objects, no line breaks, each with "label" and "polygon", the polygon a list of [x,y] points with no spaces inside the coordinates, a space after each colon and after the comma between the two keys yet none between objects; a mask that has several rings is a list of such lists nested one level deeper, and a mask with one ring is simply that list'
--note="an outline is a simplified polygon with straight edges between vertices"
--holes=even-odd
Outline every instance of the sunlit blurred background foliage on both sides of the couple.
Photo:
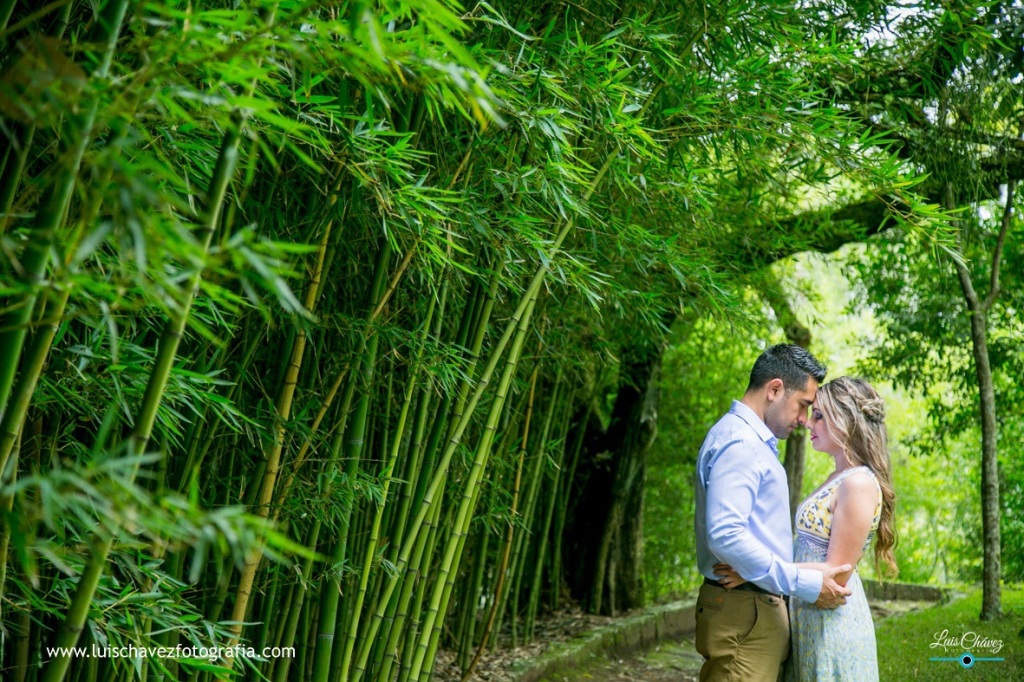
[{"label": "sunlit blurred background foliage on both sides of the couple", "polygon": [[[865,280],[848,281],[844,276],[844,272],[860,272],[844,269],[851,261],[877,258],[872,271],[887,271],[897,260],[891,254],[873,254],[873,248],[870,244],[855,245],[836,258],[802,255],[772,269],[784,285],[785,296],[793,301],[798,317],[810,328],[811,349],[828,367],[829,377],[858,374],[865,365],[874,369],[872,380],[887,404],[897,493],[899,580],[973,583],[981,577],[982,561],[978,548],[981,520],[977,418],[967,414],[962,430],[946,428],[939,437],[929,420],[935,404],[942,404],[946,416],[953,409],[974,409],[970,403],[964,406],[950,399],[956,390],[950,382],[932,383],[922,393],[920,387],[896,384],[902,376],[899,373],[904,371],[904,360],[894,356],[887,364],[865,363],[872,350],[891,350],[897,342],[888,336],[885,310],[853,305],[865,300]],[[769,286],[760,279],[758,282]],[[894,285],[894,289],[913,295],[905,287]],[[676,342],[665,355],[658,439],[648,460],[645,511],[647,585],[655,600],[684,593],[699,581],[691,538],[696,453],[708,428],[728,409],[729,398],[741,393],[759,346],[781,340],[774,330],[777,322],[765,316],[765,310],[759,307],[763,303],[752,298],[750,304],[749,322],[743,327],[709,319],[677,326]],[[945,352],[963,349],[950,346]],[[1005,428],[1013,428],[1014,424],[1012,416],[1004,421]],[[1006,547],[1017,546],[1013,534],[1019,532],[1019,514],[1015,510],[1020,509],[1020,484],[1015,462],[1013,457],[1000,459],[1001,481],[1007,486],[1002,491]],[[831,458],[808,449],[804,495],[817,487],[831,469]],[[1018,580],[1017,564],[1016,553],[1007,552],[1004,570],[1008,580]],[[862,561],[858,570],[865,577],[874,576],[868,560]]]}]

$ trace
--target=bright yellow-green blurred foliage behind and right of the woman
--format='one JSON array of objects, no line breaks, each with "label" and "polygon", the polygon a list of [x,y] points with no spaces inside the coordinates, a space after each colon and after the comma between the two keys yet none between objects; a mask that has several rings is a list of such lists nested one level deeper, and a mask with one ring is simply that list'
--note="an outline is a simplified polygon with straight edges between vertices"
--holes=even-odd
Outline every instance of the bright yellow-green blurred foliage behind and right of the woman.
[{"label": "bright yellow-green blurred foliage behind and right of the woman", "polygon": [[[863,281],[845,275],[856,270],[849,262],[874,257],[876,245],[851,245],[836,257],[802,256],[780,263],[776,272],[790,279],[787,296],[811,328],[812,350],[828,366],[829,377],[861,375],[873,349],[891,348],[887,328],[877,311],[863,303]],[[888,265],[891,259],[886,260]],[[882,265],[880,265],[882,266]],[[950,350],[952,352],[952,350]],[[901,365],[895,358],[880,366],[871,380],[886,401],[886,425],[897,495],[896,562],[900,581],[945,584],[972,582],[980,577],[980,479],[972,443],[977,427],[937,441],[929,426],[928,397],[896,380]],[[949,386],[937,383],[932,395],[948,395]],[[974,422],[972,422],[974,424]],[[809,450],[804,494],[809,495],[833,470],[831,458]],[[869,560],[858,570],[874,577]]]}]

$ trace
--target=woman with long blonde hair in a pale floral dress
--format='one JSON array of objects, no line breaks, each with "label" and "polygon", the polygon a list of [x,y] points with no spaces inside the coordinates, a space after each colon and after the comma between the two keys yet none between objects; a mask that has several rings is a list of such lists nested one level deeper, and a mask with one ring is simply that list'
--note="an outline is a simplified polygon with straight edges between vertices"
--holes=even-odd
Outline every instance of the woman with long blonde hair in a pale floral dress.
[{"label": "woman with long blonde hair in a pale floral dress", "polygon": [[[841,377],[818,389],[808,420],[812,446],[836,461],[836,470],[797,510],[796,560],[809,567],[856,566],[874,539],[874,564],[897,572],[893,548],[895,493],[885,403],[866,381]],[[727,566],[723,587],[743,582]],[[790,601],[790,680],[878,680],[874,626],[854,568],[837,581],[853,593],[845,606],[821,610]]]}]

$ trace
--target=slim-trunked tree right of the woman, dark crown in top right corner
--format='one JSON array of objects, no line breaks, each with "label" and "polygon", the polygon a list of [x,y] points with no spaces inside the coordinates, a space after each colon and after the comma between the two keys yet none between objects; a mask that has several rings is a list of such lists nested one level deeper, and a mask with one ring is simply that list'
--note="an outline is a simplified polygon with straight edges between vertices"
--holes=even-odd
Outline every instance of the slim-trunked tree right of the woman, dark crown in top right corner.
[{"label": "slim-trunked tree right of the woman, dark crown in top right corner", "polygon": [[[899,140],[900,154],[929,174],[931,191],[944,208],[961,212],[952,222],[957,241],[949,262],[969,311],[980,403],[985,620],[1000,613],[997,402],[986,327],[999,295],[1002,249],[1014,229],[1014,188],[1024,175],[1019,136],[1024,98],[1016,85],[1022,73],[1022,18],[1013,2],[955,8],[923,3],[901,22],[899,31],[907,40],[882,40],[866,55],[870,87],[863,76],[845,79],[851,102]],[[888,91],[881,99],[873,94],[880,85]],[[987,253],[978,251],[974,214],[998,198],[1000,187],[1008,190],[999,237]],[[985,295],[978,293],[978,274],[966,262],[977,258],[990,263],[983,275],[989,282]]]}]

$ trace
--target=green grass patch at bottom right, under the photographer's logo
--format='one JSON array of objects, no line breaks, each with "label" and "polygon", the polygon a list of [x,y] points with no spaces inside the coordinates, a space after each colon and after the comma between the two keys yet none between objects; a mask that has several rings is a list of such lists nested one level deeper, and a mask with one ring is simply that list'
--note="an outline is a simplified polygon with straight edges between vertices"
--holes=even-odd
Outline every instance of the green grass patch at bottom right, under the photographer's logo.
[{"label": "green grass patch at bottom right, under the photographer's logo", "polygon": [[[983,623],[978,619],[980,611],[979,588],[950,603],[880,623],[876,634],[882,680],[1024,680],[1024,586],[1002,588],[1002,619]],[[943,631],[945,650],[933,646]],[[974,646],[972,639],[977,642]],[[1001,642],[1001,648],[980,646],[983,640]],[[965,668],[958,660],[965,652],[1002,660],[976,660]],[[934,657],[957,659],[931,660]]]}]

